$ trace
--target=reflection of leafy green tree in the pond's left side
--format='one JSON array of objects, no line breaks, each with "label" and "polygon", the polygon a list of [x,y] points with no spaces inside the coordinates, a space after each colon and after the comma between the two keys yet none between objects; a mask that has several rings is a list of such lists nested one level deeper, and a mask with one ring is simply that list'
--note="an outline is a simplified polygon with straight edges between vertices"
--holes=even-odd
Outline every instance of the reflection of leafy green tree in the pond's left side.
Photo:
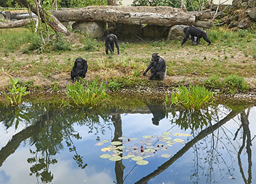
[{"label": "reflection of leafy green tree in the pond's left side", "polygon": [[110,121],[110,116],[105,112],[100,115],[98,112],[89,112],[87,109],[60,110],[51,103],[48,105],[29,104],[16,110],[4,108],[0,111],[0,117],[6,129],[13,125],[14,120],[16,127],[19,123],[27,125],[0,150],[0,166],[8,156],[18,149],[21,142],[31,138],[30,144],[34,144],[36,147],[35,151],[30,150],[34,156],[27,159],[28,163],[33,163],[31,175],[35,174],[37,178],[40,177],[44,183],[50,183],[53,180],[50,164],[58,163],[54,156],[63,149],[63,139],[65,139],[69,151],[75,152],[73,159],[78,163],[78,167],[85,168],[87,166],[87,163],[83,163],[82,156],[76,151],[72,140],[81,139],[79,133],[75,132],[73,128],[74,123],[81,126],[86,125],[90,129],[89,133],[96,132],[95,134],[100,131],[104,134],[105,127],[110,127],[110,123],[100,122],[100,118],[105,122]]}]

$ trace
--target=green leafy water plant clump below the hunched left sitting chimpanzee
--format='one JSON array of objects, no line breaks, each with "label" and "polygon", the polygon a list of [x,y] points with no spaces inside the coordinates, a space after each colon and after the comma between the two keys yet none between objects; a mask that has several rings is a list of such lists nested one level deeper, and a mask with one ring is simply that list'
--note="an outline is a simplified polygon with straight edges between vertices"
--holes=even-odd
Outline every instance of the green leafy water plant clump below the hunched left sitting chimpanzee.
[{"label": "green leafy water plant clump below the hunched left sitting chimpanzee", "polygon": [[[106,93],[106,84],[102,82],[99,86],[96,79],[91,83],[87,81],[85,86],[79,81],[75,81],[75,84],[67,84],[66,94],[69,98],[72,98],[75,105],[90,108],[99,105],[102,100],[109,99]],[[63,104],[67,105],[64,100]]]}]

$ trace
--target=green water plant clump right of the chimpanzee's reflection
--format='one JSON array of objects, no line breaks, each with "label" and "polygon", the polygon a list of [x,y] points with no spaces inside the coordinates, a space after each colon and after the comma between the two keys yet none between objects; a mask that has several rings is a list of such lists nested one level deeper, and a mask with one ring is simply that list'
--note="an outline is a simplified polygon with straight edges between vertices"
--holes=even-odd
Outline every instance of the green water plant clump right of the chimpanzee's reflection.
[{"label": "green water plant clump right of the chimpanzee's reflection", "polygon": [[[192,86],[192,84],[188,89],[185,86],[178,86],[178,91],[171,93],[171,104],[191,111],[198,111],[208,106],[213,102],[211,99],[213,99],[213,92],[208,91],[204,86]],[[166,102],[168,101],[169,98],[166,95]]]}]

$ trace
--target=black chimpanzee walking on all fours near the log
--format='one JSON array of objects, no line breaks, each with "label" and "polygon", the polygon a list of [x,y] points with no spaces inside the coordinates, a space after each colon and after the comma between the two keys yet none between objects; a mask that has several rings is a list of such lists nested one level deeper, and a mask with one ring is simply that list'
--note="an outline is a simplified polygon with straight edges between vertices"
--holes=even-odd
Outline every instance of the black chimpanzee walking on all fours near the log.
[{"label": "black chimpanzee walking on all fours near the log", "polygon": [[186,40],[188,40],[189,35],[191,35],[192,45],[194,41],[196,41],[196,45],[199,45],[200,38],[202,37],[204,40],[206,40],[206,42],[208,42],[208,45],[211,44],[211,41],[209,40],[209,38],[207,38],[206,31],[202,30],[201,28],[196,28],[193,25],[191,25],[190,27],[184,28],[183,32],[185,34],[185,38],[183,39],[181,46],[183,46]]}]

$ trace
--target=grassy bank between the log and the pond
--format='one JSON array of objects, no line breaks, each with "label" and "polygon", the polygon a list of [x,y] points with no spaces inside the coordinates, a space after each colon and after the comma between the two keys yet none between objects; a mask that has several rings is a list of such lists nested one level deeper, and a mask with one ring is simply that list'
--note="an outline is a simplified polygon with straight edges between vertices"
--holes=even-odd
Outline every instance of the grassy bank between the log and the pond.
[{"label": "grassy bank between the log and the pond", "polygon": [[[256,36],[249,30],[233,32],[226,27],[211,28],[208,30],[208,37],[213,41],[210,46],[203,39],[201,45],[192,46],[188,40],[183,47],[180,47],[180,40],[121,41],[120,54],[115,48],[111,55],[105,54],[104,42],[79,33],[71,39],[57,35],[53,42],[42,45],[38,35],[31,30],[0,30],[0,74],[51,78],[65,73],[68,76],[77,57],[87,60],[91,79],[107,81],[107,88],[113,91],[139,85],[171,85],[169,81],[174,76],[204,76],[208,88],[218,88],[221,86],[216,76],[223,81],[228,76],[245,78],[256,74]],[[148,80],[150,73],[142,76],[154,52],[166,60],[167,81],[154,83]]]}]

